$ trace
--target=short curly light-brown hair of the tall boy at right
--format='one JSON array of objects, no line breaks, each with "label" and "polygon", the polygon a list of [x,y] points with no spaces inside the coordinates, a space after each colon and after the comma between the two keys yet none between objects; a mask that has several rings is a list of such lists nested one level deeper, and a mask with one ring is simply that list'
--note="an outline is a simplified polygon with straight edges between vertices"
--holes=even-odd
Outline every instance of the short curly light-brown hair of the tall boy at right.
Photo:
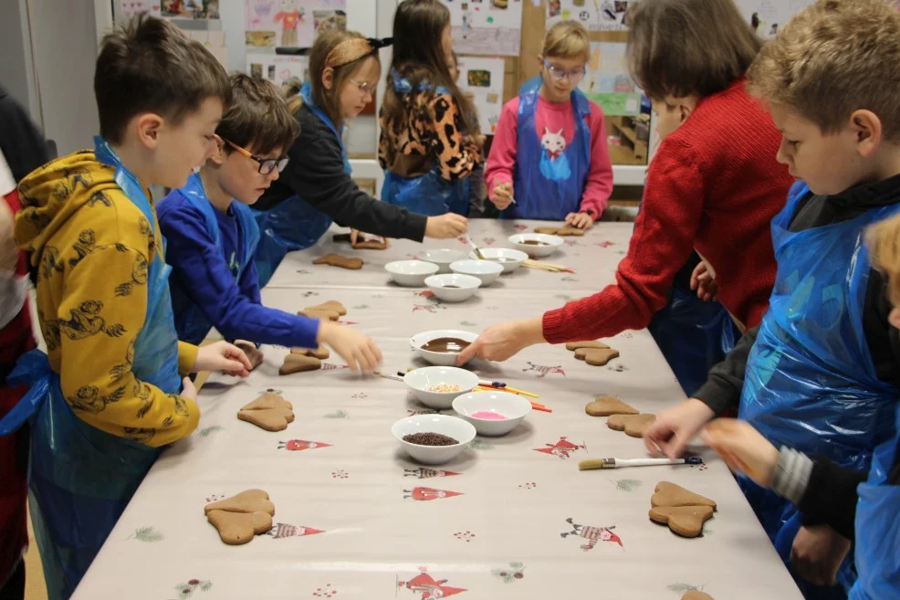
[{"label": "short curly light-brown hair of the tall boy at right", "polygon": [[793,109],[823,133],[873,111],[900,142],[900,14],[884,0],[819,0],[759,53],[750,90]]}]

